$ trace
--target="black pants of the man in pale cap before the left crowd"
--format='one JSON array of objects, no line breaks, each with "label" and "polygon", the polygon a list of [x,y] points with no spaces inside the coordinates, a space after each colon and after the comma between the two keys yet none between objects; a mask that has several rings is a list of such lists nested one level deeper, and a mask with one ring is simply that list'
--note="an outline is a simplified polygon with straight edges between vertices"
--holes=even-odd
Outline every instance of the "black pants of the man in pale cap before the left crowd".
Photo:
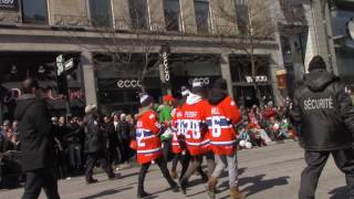
[{"label": "black pants of the man in pale cap before the left crowd", "polygon": [[104,153],[91,153],[87,154],[86,159],[86,170],[85,170],[85,178],[86,181],[93,179],[93,168],[95,167],[96,163],[100,161],[101,167],[107,174],[108,178],[114,176],[111,165],[107,163],[106,158],[104,157]]}]

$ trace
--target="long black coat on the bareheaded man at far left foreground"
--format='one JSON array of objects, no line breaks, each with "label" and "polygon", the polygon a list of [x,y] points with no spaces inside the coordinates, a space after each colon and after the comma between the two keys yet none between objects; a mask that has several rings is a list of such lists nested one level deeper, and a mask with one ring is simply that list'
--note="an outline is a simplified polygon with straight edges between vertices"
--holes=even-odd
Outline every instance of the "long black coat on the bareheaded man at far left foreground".
[{"label": "long black coat on the bareheaded man at far left foreground", "polygon": [[24,94],[17,102],[14,118],[21,132],[24,170],[51,168],[54,160],[54,136],[46,105],[35,95]]}]

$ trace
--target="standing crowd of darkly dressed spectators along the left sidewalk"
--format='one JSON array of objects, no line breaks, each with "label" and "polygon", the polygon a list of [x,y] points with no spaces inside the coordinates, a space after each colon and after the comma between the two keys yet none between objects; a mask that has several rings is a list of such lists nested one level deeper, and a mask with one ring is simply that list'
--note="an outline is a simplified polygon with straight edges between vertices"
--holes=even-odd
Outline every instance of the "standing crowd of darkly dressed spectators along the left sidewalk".
[{"label": "standing crowd of darkly dressed spectators along the left sidewalk", "polygon": [[[55,130],[55,161],[59,179],[70,179],[72,176],[84,174],[85,170],[85,130],[81,117],[52,117]],[[134,119],[124,113],[113,113],[102,116],[101,132],[104,134],[105,153],[108,163],[116,170],[122,165],[131,166],[135,153],[129,145],[129,134],[134,132]],[[4,167],[9,167],[8,156],[20,150],[20,136],[17,121],[4,121],[0,126],[0,187],[3,180]],[[7,163],[4,164],[4,161]],[[20,165],[20,163],[18,163]],[[21,176],[19,176],[20,178]],[[12,179],[13,180],[13,179]]]}]

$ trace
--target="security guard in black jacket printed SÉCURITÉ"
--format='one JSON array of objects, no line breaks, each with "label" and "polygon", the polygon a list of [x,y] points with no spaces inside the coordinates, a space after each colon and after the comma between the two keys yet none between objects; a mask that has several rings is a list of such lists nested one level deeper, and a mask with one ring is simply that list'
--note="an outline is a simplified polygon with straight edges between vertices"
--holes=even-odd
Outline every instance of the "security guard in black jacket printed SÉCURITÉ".
[{"label": "security guard in black jacket printed S\u00c9CURIT\u00c9", "polygon": [[308,167],[301,175],[300,199],[314,199],[320,175],[332,154],[345,174],[354,199],[354,107],[340,78],[325,70],[321,56],[309,65],[304,84],[294,93],[291,111]]}]

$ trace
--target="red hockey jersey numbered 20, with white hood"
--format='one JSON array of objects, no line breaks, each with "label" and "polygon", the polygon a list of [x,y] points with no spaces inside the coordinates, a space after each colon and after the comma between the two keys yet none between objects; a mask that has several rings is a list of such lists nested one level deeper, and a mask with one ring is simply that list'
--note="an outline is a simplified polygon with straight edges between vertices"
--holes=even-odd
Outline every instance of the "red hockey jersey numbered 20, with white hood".
[{"label": "red hockey jersey numbered 20, with white hood", "polygon": [[198,95],[190,94],[187,102],[183,105],[183,133],[185,134],[187,149],[191,156],[206,153],[210,140],[206,139],[208,130],[202,129],[206,123],[208,102]]}]

